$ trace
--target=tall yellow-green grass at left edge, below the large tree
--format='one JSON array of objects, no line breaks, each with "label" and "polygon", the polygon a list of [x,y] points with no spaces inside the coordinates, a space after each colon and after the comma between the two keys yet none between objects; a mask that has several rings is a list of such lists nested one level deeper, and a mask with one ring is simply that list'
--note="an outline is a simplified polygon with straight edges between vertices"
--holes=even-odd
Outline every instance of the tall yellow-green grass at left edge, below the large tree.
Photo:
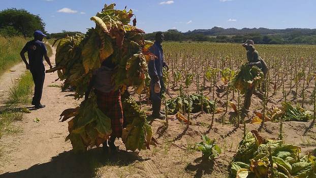
[{"label": "tall yellow-green grass at left edge, below the large tree", "polygon": [[0,74],[22,61],[20,51],[26,42],[27,39],[23,37],[7,38],[0,36]]}]

